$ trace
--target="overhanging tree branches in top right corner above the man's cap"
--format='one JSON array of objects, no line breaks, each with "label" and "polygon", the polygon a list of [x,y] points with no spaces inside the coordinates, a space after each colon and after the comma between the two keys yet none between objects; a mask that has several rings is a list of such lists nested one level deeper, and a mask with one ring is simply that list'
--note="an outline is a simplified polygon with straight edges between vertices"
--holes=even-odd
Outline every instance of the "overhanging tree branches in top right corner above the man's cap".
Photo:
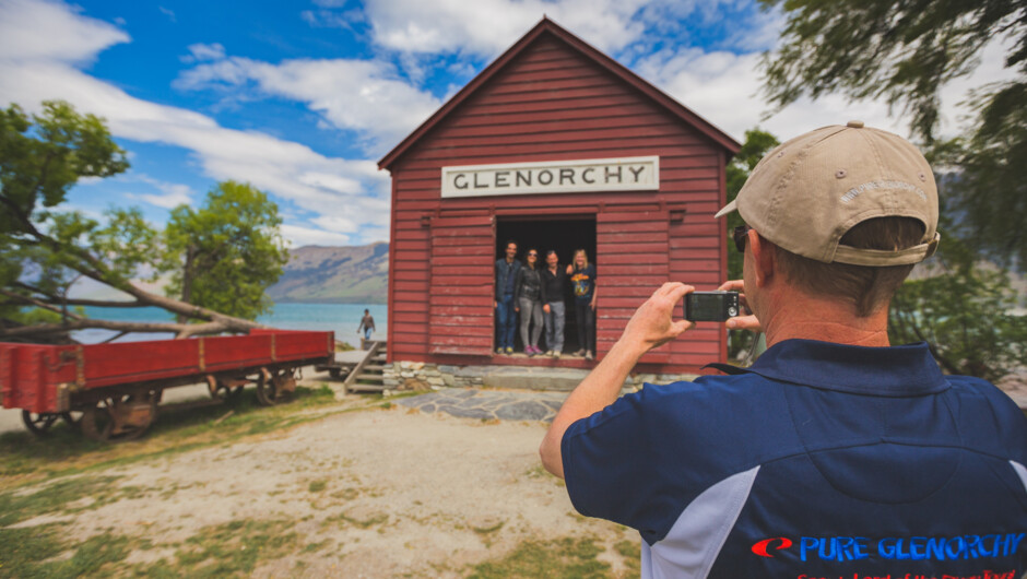
[{"label": "overhanging tree branches in top right corner above the man's cap", "polygon": [[[781,45],[764,56],[764,90],[783,107],[802,96],[883,98],[910,118],[929,149],[947,151],[963,186],[948,209],[970,249],[1027,263],[1027,19],[1023,0],[760,0],[787,17]],[[990,42],[1007,39],[1014,79],[979,86],[972,128],[937,143],[941,91],[970,74]],[[953,232],[954,233],[954,232]]]}]

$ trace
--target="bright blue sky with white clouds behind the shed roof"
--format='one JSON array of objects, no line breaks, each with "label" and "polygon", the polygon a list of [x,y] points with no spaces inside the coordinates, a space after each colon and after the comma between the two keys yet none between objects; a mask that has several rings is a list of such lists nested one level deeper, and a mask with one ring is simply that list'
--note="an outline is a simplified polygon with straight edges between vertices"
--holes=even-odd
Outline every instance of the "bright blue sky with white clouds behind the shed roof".
[{"label": "bright blue sky with white clouds behind the shed roof", "polygon": [[[0,0],[0,106],[107,119],[132,168],[78,185],[69,209],[134,205],[161,226],[237,179],[278,202],[294,247],[388,240],[376,162],[543,14],[740,141],[853,118],[907,132],[884,104],[833,96],[764,119],[757,63],[783,21],[748,0]],[[1001,75],[985,52],[946,88],[945,126]]]}]

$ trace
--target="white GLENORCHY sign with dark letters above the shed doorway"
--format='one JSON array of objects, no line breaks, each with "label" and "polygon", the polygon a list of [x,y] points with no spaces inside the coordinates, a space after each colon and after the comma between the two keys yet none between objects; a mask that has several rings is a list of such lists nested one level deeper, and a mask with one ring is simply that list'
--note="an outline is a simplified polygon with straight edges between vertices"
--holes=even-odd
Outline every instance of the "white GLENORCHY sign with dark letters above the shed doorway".
[{"label": "white GLENORCHY sign with dark letters above the shed doorway", "polygon": [[659,188],[658,156],[442,167],[444,198]]}]

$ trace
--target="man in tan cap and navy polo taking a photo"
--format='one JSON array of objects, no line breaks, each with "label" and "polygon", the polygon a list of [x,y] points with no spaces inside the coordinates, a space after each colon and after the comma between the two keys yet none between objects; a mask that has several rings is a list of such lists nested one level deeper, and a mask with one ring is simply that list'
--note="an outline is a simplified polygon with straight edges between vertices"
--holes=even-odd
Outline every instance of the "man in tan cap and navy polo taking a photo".
[{"label": "man in tan cap and navy polo taking a photo", "polygon": [[[668,283],[542,442],[581,513],[637,529],[642,577],[1010,577],[1027,569],[1027,421],[992,385],[890,346],[888,303],[933,253],[937,190],[908,142],[826,127],[771,151],[735,202],[769,348],[730,376],[617,400],[692,327]],[[991,575],[988,575],[991,574]]]}]

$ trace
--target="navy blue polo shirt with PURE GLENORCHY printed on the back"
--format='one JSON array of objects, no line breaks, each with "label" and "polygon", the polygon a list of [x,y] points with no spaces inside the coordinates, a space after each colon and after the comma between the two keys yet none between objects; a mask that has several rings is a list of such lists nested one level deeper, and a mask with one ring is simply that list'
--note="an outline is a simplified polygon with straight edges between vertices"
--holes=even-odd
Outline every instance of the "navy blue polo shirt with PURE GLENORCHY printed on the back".
[{"label": "navy blue polo shirt with PURE GLENORCHY printed on the back", "polygon": [[639,531],[642,577],[1027,569],[1027,420],[994,386],[925,344],[788,340],[734,371],[646,385],[564,435],[575,508]]}]

